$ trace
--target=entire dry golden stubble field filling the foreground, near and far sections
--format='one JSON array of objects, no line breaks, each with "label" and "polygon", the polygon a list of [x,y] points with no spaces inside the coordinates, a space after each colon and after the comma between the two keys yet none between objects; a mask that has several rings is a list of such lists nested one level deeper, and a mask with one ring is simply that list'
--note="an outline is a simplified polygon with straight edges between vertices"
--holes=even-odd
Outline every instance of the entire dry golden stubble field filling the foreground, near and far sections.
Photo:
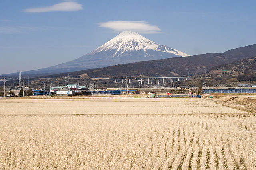
[{"label": "entire dry golden stubble field filling the foreground, near and far sections", "polygon": [[0,169],[256,169],[256,117],[204,99],[1,100],[0,111]]}]

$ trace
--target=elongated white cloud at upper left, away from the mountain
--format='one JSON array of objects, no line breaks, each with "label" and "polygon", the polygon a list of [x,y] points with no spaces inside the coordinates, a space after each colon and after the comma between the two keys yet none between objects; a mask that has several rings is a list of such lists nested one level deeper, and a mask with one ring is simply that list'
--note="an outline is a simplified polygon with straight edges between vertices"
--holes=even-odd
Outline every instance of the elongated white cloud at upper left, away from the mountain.
[{"label": "elongated white cloud at upper left, away from the mountain", "polygon": [[79,11],[82,10],[82,5],[77,2],[61,2],[52,6],[38,7],[38,8],[27,8],[23,12],[53,12],[53,11]]}]

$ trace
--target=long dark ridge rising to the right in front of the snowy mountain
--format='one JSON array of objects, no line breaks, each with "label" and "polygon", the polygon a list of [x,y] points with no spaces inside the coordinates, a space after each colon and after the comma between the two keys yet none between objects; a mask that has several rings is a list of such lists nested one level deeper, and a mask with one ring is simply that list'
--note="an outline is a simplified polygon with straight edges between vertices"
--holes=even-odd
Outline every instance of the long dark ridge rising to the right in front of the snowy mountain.
[{"label": "long dark ridge rising to the right in front of the snowy mountain", "polygon": [[133,77],[133,76],[188,76],[204,73],[214,66],[229,64],[234,61],[256,56],[256,44],[228,50],[224,53],[207,53],[189,57],[174,57],[161,60],[142,61],[129,64],[119,64],[104,68],[82,70],[76,72],[55,74],[50,77]]}]

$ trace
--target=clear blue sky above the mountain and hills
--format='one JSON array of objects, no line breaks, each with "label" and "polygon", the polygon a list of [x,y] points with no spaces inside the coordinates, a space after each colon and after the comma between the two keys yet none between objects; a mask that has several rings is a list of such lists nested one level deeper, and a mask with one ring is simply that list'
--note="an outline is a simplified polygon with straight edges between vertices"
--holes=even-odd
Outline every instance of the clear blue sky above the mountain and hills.
[{"label": "clear blue sky above the mountain and hills", "polygon": [[255,6],[254,0],[4,0],[0,74],[81,57],[122,31],[106,26],[115,21],[140,21],[145,30],[135,31],[189,55],[255,44]]}]

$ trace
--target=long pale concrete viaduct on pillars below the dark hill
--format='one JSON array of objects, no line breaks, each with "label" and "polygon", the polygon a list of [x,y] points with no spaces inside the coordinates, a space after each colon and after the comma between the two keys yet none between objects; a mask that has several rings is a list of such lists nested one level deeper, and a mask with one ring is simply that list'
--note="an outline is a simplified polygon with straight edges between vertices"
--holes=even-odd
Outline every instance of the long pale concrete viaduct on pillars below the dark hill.
[{"label": "long pale concrete viaduct on pillars below the dark hill", "polygon": [[[118,83],[118,81],[125,83],[125,80],[128,81],[128,83],[140,83],[140,84],[165,84],[166,80],[167,82],[173,82],[173,81],[180,81],[180,80],[188,80],[192,77],[186,76],[186,77],[113,77],[113,78],[105,78],[110,80],[115,80],[115,83]],[[170,80],[170,81],[169,81]]]}]

